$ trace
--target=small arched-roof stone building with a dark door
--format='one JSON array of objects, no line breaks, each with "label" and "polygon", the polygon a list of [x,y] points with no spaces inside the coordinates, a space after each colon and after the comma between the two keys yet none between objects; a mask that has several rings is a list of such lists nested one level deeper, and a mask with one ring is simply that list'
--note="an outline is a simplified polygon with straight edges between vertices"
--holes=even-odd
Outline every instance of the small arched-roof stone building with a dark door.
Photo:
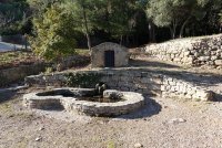
[{"label": "small arched-roof stone building with a dark door", "polygon": [[92,67],[120,67],[129,62],[128,49],[111,42],[92,47],[91,57]]}]

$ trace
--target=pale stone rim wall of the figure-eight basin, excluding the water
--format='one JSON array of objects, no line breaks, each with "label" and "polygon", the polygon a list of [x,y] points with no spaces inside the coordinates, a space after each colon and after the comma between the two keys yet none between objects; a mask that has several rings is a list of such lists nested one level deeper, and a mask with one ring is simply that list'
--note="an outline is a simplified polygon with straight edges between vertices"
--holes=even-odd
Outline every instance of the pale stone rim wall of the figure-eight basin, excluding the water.
[{"label": "pale stone rim wall of the figure-eight basin, excluding the water", "polygon": [[[44,109],[49,105],[62,106],[65,110],[71,113],[78,113],[80,115],[89,116],[118,116],[128,114],[141,108],[144,105],[144,97],[139,93],[132,92],[118,92],[122,93],[123,101],[117,103],[97,103],[78,101],[78,96],[82,95],[82,92],[91,92],[92,89],[84,88],[59,88],[58,91],[70,91],[73,94],[78,94],[74,97],[63,97],[62,95],[43,96],[42,93],[30,93],[23,96],[23,105],[28,108]],[[113,92],[113,91],[112,91]],[[46,92],[47,93],[47,92]]]}]

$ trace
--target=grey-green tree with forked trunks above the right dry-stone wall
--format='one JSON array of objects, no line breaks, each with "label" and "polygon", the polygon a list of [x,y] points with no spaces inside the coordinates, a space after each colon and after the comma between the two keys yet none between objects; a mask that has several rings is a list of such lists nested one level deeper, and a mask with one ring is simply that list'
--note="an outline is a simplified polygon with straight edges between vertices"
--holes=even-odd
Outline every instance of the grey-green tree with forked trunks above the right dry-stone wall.
[{"label": "grey-green tree with forked trunks above the right dry-stone wall", "polygon": [[147,9],[148,17],[158,27],[169,27],[174,39],[176,29],[179,36],[183,35],[185,25],[191,19],[202,20],[209,0],[150,0]]}]

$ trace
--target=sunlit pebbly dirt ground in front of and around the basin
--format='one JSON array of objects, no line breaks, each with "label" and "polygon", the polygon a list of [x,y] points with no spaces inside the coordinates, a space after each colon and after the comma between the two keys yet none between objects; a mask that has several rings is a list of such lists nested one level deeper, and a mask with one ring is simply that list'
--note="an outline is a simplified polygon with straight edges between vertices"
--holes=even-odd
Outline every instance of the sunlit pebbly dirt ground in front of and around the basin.
[{"label": "sunlit pebbly dirt ground in front of and around the basin", "polygon": [[[22,95],[0,103],[0,148],[220,148],[222,104],[147,97],[144,108],[115,118],[28,110]],[[10,99],[9,99],[10,98]]]}]

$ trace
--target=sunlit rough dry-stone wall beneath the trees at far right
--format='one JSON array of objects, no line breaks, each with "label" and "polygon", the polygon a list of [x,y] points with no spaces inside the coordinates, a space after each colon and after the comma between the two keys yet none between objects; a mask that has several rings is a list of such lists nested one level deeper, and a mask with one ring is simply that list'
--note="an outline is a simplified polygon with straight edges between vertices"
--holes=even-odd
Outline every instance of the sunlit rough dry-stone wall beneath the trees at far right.
[{"label": "sunlit rough dry-stone wall beneath the trees at far right", "polygon": [[222,34],[147,45],[143,53],[184,65],[222,67]]}]

